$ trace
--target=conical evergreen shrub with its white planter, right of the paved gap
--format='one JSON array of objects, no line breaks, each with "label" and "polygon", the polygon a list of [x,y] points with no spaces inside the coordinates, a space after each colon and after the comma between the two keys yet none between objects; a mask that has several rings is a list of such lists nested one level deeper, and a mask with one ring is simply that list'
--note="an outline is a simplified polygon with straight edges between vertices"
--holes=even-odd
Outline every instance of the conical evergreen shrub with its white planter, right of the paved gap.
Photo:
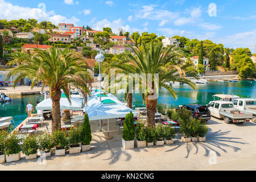
[{"label": "conical evergreen shrub with its white planter, right of the paved gap", "polygon": [[134,117],[133,113],[130,112],[125,117],[125,123],[123,124],[123,136],[122,146],[125,150],[134,148]]}]

